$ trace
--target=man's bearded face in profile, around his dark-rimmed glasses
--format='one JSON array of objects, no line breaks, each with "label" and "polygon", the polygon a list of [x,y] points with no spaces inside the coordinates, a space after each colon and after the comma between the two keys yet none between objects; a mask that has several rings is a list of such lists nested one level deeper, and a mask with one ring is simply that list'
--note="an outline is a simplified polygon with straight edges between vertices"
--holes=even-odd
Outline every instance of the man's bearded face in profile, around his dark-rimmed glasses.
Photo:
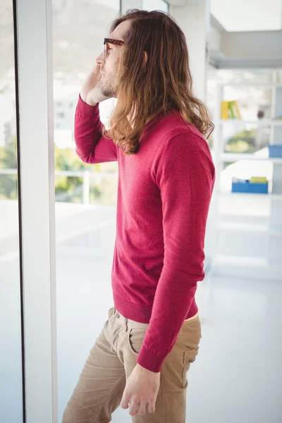
[{"label": "man's bearded face in profile, around his dark-rimmed glasses", "polygon": [[[130,20],[125,20],[120,23],[114,32],[109,34],[111,39],[120,39],[124,41],[124,34],[130,27]],[[118,60],[121,54],[121,46],[116,44],[109,44],[109,51],[106,57],[104,57],[104,51],[97,57],[96,62],[100,65],[100,71],[102,79],[100,81],[101,92],[106,97],[116,97],[114,90],[114,81],[116,78],[116,72],[118,68]]]}]

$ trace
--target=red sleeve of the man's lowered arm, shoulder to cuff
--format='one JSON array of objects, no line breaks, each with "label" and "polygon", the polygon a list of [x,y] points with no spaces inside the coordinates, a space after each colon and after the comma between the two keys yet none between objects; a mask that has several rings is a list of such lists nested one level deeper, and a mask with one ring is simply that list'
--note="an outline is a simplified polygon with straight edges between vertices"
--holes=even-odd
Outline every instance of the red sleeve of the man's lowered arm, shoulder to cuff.
[{"label": "red sleeve of the man's lowered arm, shoulder to cuff", "polygon": [[157,171],[161,190],[164,266],[152,317],[137,357],[160,372],[204,278],[204,237],[214,187],[214,164],[207,142],[188,130],[169,140]]}]

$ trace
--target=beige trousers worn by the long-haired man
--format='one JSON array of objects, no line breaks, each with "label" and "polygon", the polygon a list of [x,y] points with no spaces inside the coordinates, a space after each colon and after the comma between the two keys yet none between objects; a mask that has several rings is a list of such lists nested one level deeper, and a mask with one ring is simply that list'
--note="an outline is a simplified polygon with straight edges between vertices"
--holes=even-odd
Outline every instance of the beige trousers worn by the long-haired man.
[{"label": "beige trousers worn by the long-haired man", "polygon": [[[125,319],[114,307],[109,310],[109,320],[90,350],[62,423],[111,422],[148,326]],[[196,359],[200,338],[200,318],[196,315],[183,323],[176,344],[164,360],[155,412],[132,416],[133,423],[185,422],[186,376],[190,363]]]}]

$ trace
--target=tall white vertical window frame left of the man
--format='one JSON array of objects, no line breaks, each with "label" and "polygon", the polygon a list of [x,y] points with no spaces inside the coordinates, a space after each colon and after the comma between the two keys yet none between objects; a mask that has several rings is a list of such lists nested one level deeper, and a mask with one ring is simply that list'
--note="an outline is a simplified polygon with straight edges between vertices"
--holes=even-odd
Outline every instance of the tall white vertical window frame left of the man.
[{"label": "tall white vertical window frame left of the man", "polygon": [[57,422],[51,0],[14,0],[25,415]]}]

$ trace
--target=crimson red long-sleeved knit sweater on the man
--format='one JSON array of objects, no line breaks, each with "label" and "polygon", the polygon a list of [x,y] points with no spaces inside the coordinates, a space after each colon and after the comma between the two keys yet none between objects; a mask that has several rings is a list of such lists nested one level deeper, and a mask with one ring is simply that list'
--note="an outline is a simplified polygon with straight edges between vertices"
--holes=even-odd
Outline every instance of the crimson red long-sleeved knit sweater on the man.
[{"label": "crimson red long-sleeved knit sweater on the man", "polygon": [[160,372],[183,321],[197,313],[214,164],[200,131],[176,110],[149,121],[130,156],[101,136],[102,127],[99,105],[79,97],[78,156],[90,164],[118,161],[114,305],[124,317],[149,323],[137,362]]}]

